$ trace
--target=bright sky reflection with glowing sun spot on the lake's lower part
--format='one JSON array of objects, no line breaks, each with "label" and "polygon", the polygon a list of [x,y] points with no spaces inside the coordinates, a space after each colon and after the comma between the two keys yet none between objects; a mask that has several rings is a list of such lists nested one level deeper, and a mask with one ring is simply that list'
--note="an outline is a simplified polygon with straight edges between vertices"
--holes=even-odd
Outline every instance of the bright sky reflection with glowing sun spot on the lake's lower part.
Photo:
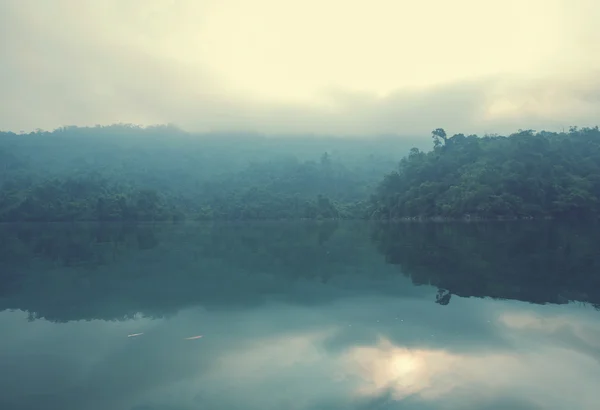
[{"label": "bright sky reflection with glowing sun spot on the lake's lower part", "polygon": [[[424,299],[273,304],[234,315],[192,309],[169,320],[27,328],[10,328],[5,312],[0,322],[15,340],[2,342],[2,352],[11,352],[2,361],[3,408],[597,408],[600,328],[589,310],[465,303],[437,320],[477,304],[481,314],[463,320],[450,342],[447,330],[426,335],[436,320],[417,312],[439,308]],[[415,313],[396,324],[390,308]],[[380,322],[357,320],[348,313],[354,309]],[[469,332],[484,324],[487,333]],[[134,328],[144,336],[128,339]],[[205,337],[184,340],[190,329]],[[561,335],[549,338],[552,332]]]}]

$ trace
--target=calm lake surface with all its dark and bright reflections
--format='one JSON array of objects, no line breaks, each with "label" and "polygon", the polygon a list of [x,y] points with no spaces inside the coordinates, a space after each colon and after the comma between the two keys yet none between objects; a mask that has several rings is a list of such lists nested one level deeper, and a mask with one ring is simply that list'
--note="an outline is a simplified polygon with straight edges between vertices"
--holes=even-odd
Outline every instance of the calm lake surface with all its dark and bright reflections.
[{"label": "calm lake surface with all its dark and bright reflections", "polygon": [[596,410],[597,232],[0,226],[0,409]]}]

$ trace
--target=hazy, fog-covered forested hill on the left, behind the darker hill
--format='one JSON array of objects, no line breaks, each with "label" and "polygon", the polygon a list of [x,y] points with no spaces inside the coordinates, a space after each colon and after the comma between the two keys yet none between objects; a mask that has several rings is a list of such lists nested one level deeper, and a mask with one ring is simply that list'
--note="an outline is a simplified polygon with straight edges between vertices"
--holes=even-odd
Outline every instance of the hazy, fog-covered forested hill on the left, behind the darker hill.
[{"label": "hazy, fog-covered forested hill on the left, behind the darker hill", "polygon": [[348,218],[411,146],[393,136],[0,133],[0,221]]}]

